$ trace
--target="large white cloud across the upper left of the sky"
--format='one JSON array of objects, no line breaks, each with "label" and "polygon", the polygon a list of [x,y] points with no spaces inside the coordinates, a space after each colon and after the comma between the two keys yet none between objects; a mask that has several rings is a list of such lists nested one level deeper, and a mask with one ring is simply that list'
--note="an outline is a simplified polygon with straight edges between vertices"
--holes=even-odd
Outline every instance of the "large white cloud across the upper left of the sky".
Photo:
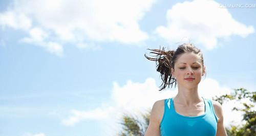
[{"label": "large white cloud across the upper left of the sky", "polygon": [[[61,46],[59,41],[73,43],[80,49],[88,47],[84,44],[89,41],[118,41],[133,44],[148,38],[147,33],[139,28],[138,21],[150,10],[155,1],[19,0],[15,1],[14,6],[9,7],[8,11],[0,13],[0,25],[26,29],[25,32],[30,35],[34,28],[44,30],[46,36],[49,37],[51,34],[52,42],[56,42],[59,46]],[[38,35],[33,34],[33,36],[42,36],[39,31],[35,33]],[[45,47],[48,47],[50,52],[56,53],[55,49],[59,47],[56,44],[53,46],[48,43]]]}]

